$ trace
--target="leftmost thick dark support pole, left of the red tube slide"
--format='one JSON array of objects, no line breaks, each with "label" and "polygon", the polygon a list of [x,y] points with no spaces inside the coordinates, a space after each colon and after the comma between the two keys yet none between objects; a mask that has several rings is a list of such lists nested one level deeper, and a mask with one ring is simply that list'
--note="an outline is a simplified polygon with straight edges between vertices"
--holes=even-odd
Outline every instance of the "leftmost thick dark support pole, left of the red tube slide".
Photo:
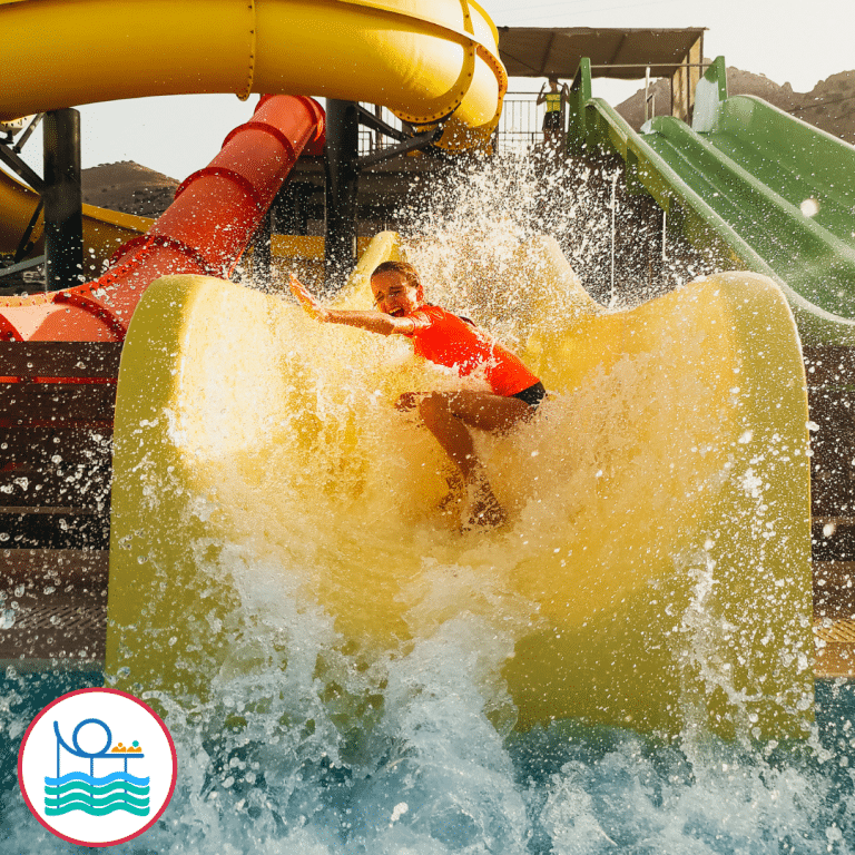
[{"label": "leftmost thick dark support pole, left of the red tube slide", "polygon": [[47,291],[83,281],[83,191],[80,184],[80,114],[45,117],[45,255]]}]

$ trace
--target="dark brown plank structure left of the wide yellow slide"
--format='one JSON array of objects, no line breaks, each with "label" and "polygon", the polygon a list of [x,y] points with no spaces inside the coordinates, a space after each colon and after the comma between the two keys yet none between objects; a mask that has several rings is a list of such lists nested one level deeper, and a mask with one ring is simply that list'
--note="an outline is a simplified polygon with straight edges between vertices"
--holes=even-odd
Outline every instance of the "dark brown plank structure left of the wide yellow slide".
[{"label": "dark brown plank structure left of the wide yellow slide", "polygon": [[120,353],[0,342],[0,666],[104,660]]}]

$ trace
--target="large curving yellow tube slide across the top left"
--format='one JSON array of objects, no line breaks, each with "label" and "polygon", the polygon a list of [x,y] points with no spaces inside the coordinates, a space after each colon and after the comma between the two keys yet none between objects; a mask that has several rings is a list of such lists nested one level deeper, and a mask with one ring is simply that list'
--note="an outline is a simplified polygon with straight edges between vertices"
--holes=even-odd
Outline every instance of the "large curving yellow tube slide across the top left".
[{"label": "large curving yellow tube slide across the top left", "polygon": [[[0,120],[187,92],[372,101],[442,145],[485,139],[507,88],[471,0],[0,0]],[[466,144],[468,145],[468,144]]]}]

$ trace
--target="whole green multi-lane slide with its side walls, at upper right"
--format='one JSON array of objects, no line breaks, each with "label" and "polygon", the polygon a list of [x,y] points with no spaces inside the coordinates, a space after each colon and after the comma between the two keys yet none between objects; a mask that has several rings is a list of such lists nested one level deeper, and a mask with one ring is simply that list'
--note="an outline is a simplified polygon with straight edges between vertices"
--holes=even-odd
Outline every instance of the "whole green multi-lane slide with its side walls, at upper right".
[{"label": "whole green multi-lane slide with its side walls, at upper right", "polygon": [[699,81],[692,126],[659,116],[636,132],[591,97],[583,59],[571,150],[616,149],[647,191],[724,268],[775,279],[806,343],[855,344],[855,147],[751,96],[727,96],[724,57]]}]

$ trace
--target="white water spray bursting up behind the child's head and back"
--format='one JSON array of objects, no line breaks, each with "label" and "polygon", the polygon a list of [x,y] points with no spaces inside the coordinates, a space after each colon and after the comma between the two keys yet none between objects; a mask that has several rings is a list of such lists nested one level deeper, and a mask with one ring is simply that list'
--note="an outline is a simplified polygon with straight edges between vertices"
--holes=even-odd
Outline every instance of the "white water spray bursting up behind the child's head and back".
[{"label": "white water spray bursting up behind the child's head and back", "polygon": [[[441,294],[438,302],[464,314],[480,311],[484,322],[497,309],[513,312],[520,302],[525,284],[508,281],[508,274],[519,245],[535,235],[558,240],[584,287],[603,305],[638,305],[721,269],[711,253],[679,234],[664,238],[661,210],[649,197],[628,194],[622,174],[622,161],[606,156],[474,159],[420,191],[399,213],[397,226],[409,236],[411,261],[440,288],[432,292]],[[501,327],[495,332],[505,334]]]}]

